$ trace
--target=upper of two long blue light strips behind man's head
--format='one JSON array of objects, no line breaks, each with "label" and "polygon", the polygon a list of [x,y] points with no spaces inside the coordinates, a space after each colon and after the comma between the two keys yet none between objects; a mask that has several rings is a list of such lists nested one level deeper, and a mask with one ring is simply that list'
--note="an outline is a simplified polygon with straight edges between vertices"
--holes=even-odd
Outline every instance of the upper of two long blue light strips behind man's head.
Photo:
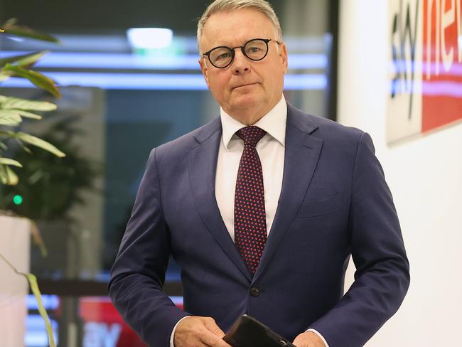
[{"label": "upper of two long blue light strips behind man's head", "polygon": [[[28,52],[0,52],[0,58]],[[129,53],[68,53],[51,52],[43,56],[38,68],[80,68],[114,70],[199,70],[198,55],[141,56]],[[324,54],[289,55],[290,69],[325,69],[328,60]]]}]

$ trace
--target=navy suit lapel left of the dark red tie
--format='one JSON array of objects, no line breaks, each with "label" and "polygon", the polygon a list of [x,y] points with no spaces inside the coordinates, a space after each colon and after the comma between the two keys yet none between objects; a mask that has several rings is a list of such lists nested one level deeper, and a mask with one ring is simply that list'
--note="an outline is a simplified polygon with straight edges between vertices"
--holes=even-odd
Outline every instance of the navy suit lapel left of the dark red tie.
[{"label": "navy suit lapel left of the dark red tie", "polygon": [[220,118],[213,120],[195,134],[198,145],[188,154],[188,170],[191,191],[196,208],[209,232],[215,237],[222,250],[251,280],[249,270],[237,251],[220,215],[215,198],[215,173],[217,169],[218,147],[221,139]]}]

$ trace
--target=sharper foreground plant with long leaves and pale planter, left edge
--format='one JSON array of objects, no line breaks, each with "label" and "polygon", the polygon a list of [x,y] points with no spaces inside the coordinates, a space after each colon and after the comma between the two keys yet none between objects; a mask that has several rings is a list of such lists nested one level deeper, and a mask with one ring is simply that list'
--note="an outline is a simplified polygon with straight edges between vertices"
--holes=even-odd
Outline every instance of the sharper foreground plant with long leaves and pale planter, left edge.
[{"label": "sharper foreground plant with long leaves and pale planter, left edge", "polygon": [[[38,33],[26,26],[19,26],[15,18],[0,25],[0,35],[20,36],[55,43],[59,42],[53,36]],[[42,51],[0,58],[0,85],[2,81],[8,78],[25,78],[31,81],[33,85],[50,92],[51,95],[60,97],[60,92],[53,80],[31,69],[45,53],[46,51]],[[55,156],[65,156],[65,154],[53,146],[53,144],[38,137],[34,137],[31,134],[27,134],[26,132],[21,132],[20,129],[21,122],[23,122],[24,118],[39,120],[41,119],[41,115],[37,112],[51,111],[55,110],[55,108],[56,106],[50,102],[24,100],[17,97],[0,95],[0,189],[1,185],[16,185],[18,183],[18,175],[15,170],[20,170],[23,165],[27,165],[26,161],[21,163],[9,156],[12,144],[20,146],[29,154],[32,154],[32,151],[28,146],[36,146],[45,151],[49,151]],[[4,199],[4,196],[1,196],[1,198]],[[10,278],[11,276],[9,276],[7,271],[9,267],[11,267],[15,272],[23,274],[23,276],[28,279],[31,290],[38,300],[40,307],[39,312],[45,320],[50,346],[55,346],[50,321],[45,309],[43,309],[43,304],[41,304],[36,278],[33,274],[28,273],[30,230],[33,230],[33,224],[31,224],[30,221],[24,218],[18,218],[7,211],[1,211],[0,257],[4,262],[1,262],[0,265],[0,276],[4,274],[5,277],[7,276]],[[0,289],[0,294],[6,294],[7,296],[11,295],[11,297],[14,297],[14,295],[17,296],[21,294],[21,292],[22,294],[27,293],[27,287],[23,282],[18,280],[18,278],[6,281],[6,284],[2,284]],[[21,311],[21,307],[16,307],[16,300],[13,301],[15,306],[14,312]],[[8,316],[9,315],[6,314],[6,317]],[[16,343],[21,344],[22,342],[21,340],[14,341],[15,336],[13,336],[14,332],[12,332],[11,329],[14,330],[23,326],[23,322],[21,324],[21,319],[24,318],[21,317],[21,314],[14,314],[14,318],[15,317],[20,320],[19,324],[16,324],[15,321],[11,321],[11,319],[8,321],[5,319],[5,321],[0,322],[0,326],[4,327],[2,336],[6,338],[6,341],[14,345],[16,345]],[[19,328],[18,336],[19,338],[23,338],[23,331],[21,331],[21,328]]]}]

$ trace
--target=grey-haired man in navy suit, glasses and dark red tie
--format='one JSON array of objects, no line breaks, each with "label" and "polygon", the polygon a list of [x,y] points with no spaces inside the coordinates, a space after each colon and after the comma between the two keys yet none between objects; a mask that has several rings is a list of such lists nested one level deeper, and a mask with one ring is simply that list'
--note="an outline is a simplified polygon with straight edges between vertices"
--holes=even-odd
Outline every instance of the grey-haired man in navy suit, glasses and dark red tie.
[{"label": "grey-haired man in navy suit, glasses and dark red tie", "polygon": [[[285,102],[267,1],[213,2],[198,45],[220,117],[151,152],[112,269],[115,306],[149,346],[229,346],[242,314],[296,346],[362,346],[409,285],[372,140]],[[170,255],[185,311],[162,291]]]}]

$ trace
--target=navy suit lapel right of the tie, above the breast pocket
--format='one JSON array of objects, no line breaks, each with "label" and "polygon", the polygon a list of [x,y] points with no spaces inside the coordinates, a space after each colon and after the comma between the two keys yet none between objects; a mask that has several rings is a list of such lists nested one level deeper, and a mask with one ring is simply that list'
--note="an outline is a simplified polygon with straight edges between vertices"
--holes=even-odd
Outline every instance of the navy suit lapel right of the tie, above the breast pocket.
[{"label": "navy suit lapel right of the tie, above the breast pocket", "polygon": [[287,104],[286,145],[281,195],[254,281],[262,274],[276,247],[289,229],[303,201],[318,163],[323,141],[311,136],[314,118]]}]

